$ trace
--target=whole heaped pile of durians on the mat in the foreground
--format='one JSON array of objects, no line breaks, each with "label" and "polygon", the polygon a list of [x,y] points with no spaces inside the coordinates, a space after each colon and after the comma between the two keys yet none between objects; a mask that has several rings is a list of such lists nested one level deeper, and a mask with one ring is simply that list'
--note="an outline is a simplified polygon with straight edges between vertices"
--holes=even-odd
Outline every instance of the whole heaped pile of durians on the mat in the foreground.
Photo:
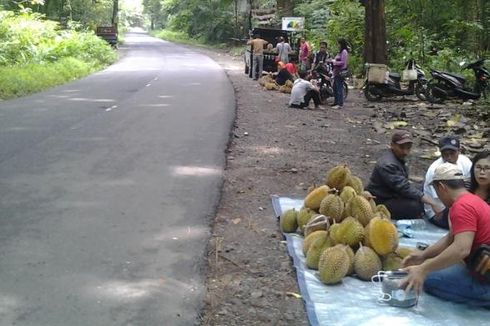
[{"label": "whole heaped pile of durians on the mat in the foreground", "polygon": [[312,186],[297,211],[280,218],[281,230],[304,235],[306,265],[320,280],[335,284],[355,275],[369,281],[379,271],[401,267],[414,249],[398,246],[398,232],[384,205],[376,205],[347,165],[327,173],[325,184]]}]

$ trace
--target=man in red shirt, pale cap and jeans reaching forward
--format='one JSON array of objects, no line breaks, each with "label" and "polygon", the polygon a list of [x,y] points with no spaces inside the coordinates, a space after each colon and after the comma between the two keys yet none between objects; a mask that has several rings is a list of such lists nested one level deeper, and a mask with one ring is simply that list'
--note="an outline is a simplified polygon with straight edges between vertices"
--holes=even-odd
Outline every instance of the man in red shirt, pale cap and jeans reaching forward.
[{"label": "man in red shirt, pale cap and jeans reaching forward", "polygon": [[434,171],[432,185],[449,207],[449,233],[404,259],[408,276],[402,287],[418,293],[424,288],[446,300],[490,307],[490,283],[483,277],[490,273],[488,264],[477,271],[469,266],[476,249],[490,245],[490,206],[465,189],[463,178],[458,166],[451,163],[443,163]]}]

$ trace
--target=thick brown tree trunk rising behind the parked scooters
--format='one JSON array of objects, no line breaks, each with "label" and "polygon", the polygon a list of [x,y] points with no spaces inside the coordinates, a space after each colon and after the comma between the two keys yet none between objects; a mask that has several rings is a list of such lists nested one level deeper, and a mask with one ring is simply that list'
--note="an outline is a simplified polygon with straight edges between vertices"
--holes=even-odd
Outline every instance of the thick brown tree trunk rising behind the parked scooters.
[{"label": "thick brown tree trunk rising behind the parked scooters", "polygon": [[386,64],[384,0],[367,0],[364,31],[364,62]]}]

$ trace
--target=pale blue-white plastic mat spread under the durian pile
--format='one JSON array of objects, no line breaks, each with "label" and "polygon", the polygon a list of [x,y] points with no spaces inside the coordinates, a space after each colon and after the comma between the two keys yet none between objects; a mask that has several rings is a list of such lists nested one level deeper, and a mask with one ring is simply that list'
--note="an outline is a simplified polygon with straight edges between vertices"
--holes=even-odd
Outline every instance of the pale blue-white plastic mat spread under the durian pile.
[{"label": "pale blue-white plastic mat spread under the durian pile", "polygon": [[[276,217],[288,209],[300,209],[302,205],[302,198],[272,196]],[[401,223],[399,229],[403,227]],[[413,238],[401,237],[400,244],[431,244],[446,231],[430,224],[425,229],[411,232]],[[396,308],[378,303],[380,286],[371,282],[345,277],[338,285],[324,285],[317,278],[317,271],[306,267],[303,238],[293,233],[285,234],[285,237],[308,319],[313,326],[490,325],[490,310],[451,303],[428,294],[422,294],[415,307]]]}]

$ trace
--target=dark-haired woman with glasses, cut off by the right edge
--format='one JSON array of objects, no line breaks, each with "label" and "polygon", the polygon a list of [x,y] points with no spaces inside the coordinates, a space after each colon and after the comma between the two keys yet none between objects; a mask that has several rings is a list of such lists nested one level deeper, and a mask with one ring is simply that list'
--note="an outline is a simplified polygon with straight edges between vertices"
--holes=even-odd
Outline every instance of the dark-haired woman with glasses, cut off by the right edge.
[{"label": "dark-haired woman with glasses, cut off by the right edge", "polygon": [[470,192],[490,205],[490,151],[475,155],[470,175]]}]

